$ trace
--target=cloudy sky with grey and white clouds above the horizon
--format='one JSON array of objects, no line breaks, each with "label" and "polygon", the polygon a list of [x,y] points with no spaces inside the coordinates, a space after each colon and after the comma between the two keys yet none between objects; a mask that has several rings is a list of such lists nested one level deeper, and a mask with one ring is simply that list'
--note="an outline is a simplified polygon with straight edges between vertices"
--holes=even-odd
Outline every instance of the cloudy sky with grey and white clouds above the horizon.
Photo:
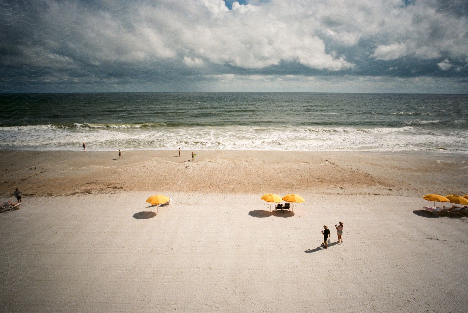
[{"label": "cloudy sky with grey and white clouds above the horizon", "polygon": [[468,93],[461,0],[0,1],[0,92]]}]

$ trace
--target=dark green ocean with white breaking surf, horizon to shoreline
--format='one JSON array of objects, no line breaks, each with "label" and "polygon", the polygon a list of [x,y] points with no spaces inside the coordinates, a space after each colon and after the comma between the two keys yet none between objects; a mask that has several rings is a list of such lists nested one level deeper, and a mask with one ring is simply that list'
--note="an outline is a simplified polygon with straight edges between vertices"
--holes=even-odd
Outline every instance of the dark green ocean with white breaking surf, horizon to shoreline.
[{"label": "dark green ocean with white breaking surf, horizon to shoreline", "polygon": [[468,95],[1,94],[0,149],[468,152]]}]

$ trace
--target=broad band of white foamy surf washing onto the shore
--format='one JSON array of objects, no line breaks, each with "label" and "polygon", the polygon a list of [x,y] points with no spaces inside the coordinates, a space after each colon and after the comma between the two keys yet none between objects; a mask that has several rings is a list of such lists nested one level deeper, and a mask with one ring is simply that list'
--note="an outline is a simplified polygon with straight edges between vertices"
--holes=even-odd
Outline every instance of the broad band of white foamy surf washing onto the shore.
[{"label": "broad band of white foamy surf washing onto the shore", "polygon": [[[129,124],[131,125],[131,124]],[[468,131],[405,127],[1,127],[0,149],[468,151]]]}]

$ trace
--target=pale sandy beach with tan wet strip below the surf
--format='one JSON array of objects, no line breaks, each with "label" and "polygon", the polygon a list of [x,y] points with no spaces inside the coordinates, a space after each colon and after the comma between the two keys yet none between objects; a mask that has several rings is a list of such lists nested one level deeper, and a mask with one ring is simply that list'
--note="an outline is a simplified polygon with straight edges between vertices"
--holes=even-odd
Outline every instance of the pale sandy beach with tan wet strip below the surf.
[{"label": "pale sandy beach with tan wet strip below the surf", "polygon": [[466,157],[194,153],[0,152],[24,202],[0,214],[0,311],[466,312],[468,216],[421,199],[467,194]]}]

